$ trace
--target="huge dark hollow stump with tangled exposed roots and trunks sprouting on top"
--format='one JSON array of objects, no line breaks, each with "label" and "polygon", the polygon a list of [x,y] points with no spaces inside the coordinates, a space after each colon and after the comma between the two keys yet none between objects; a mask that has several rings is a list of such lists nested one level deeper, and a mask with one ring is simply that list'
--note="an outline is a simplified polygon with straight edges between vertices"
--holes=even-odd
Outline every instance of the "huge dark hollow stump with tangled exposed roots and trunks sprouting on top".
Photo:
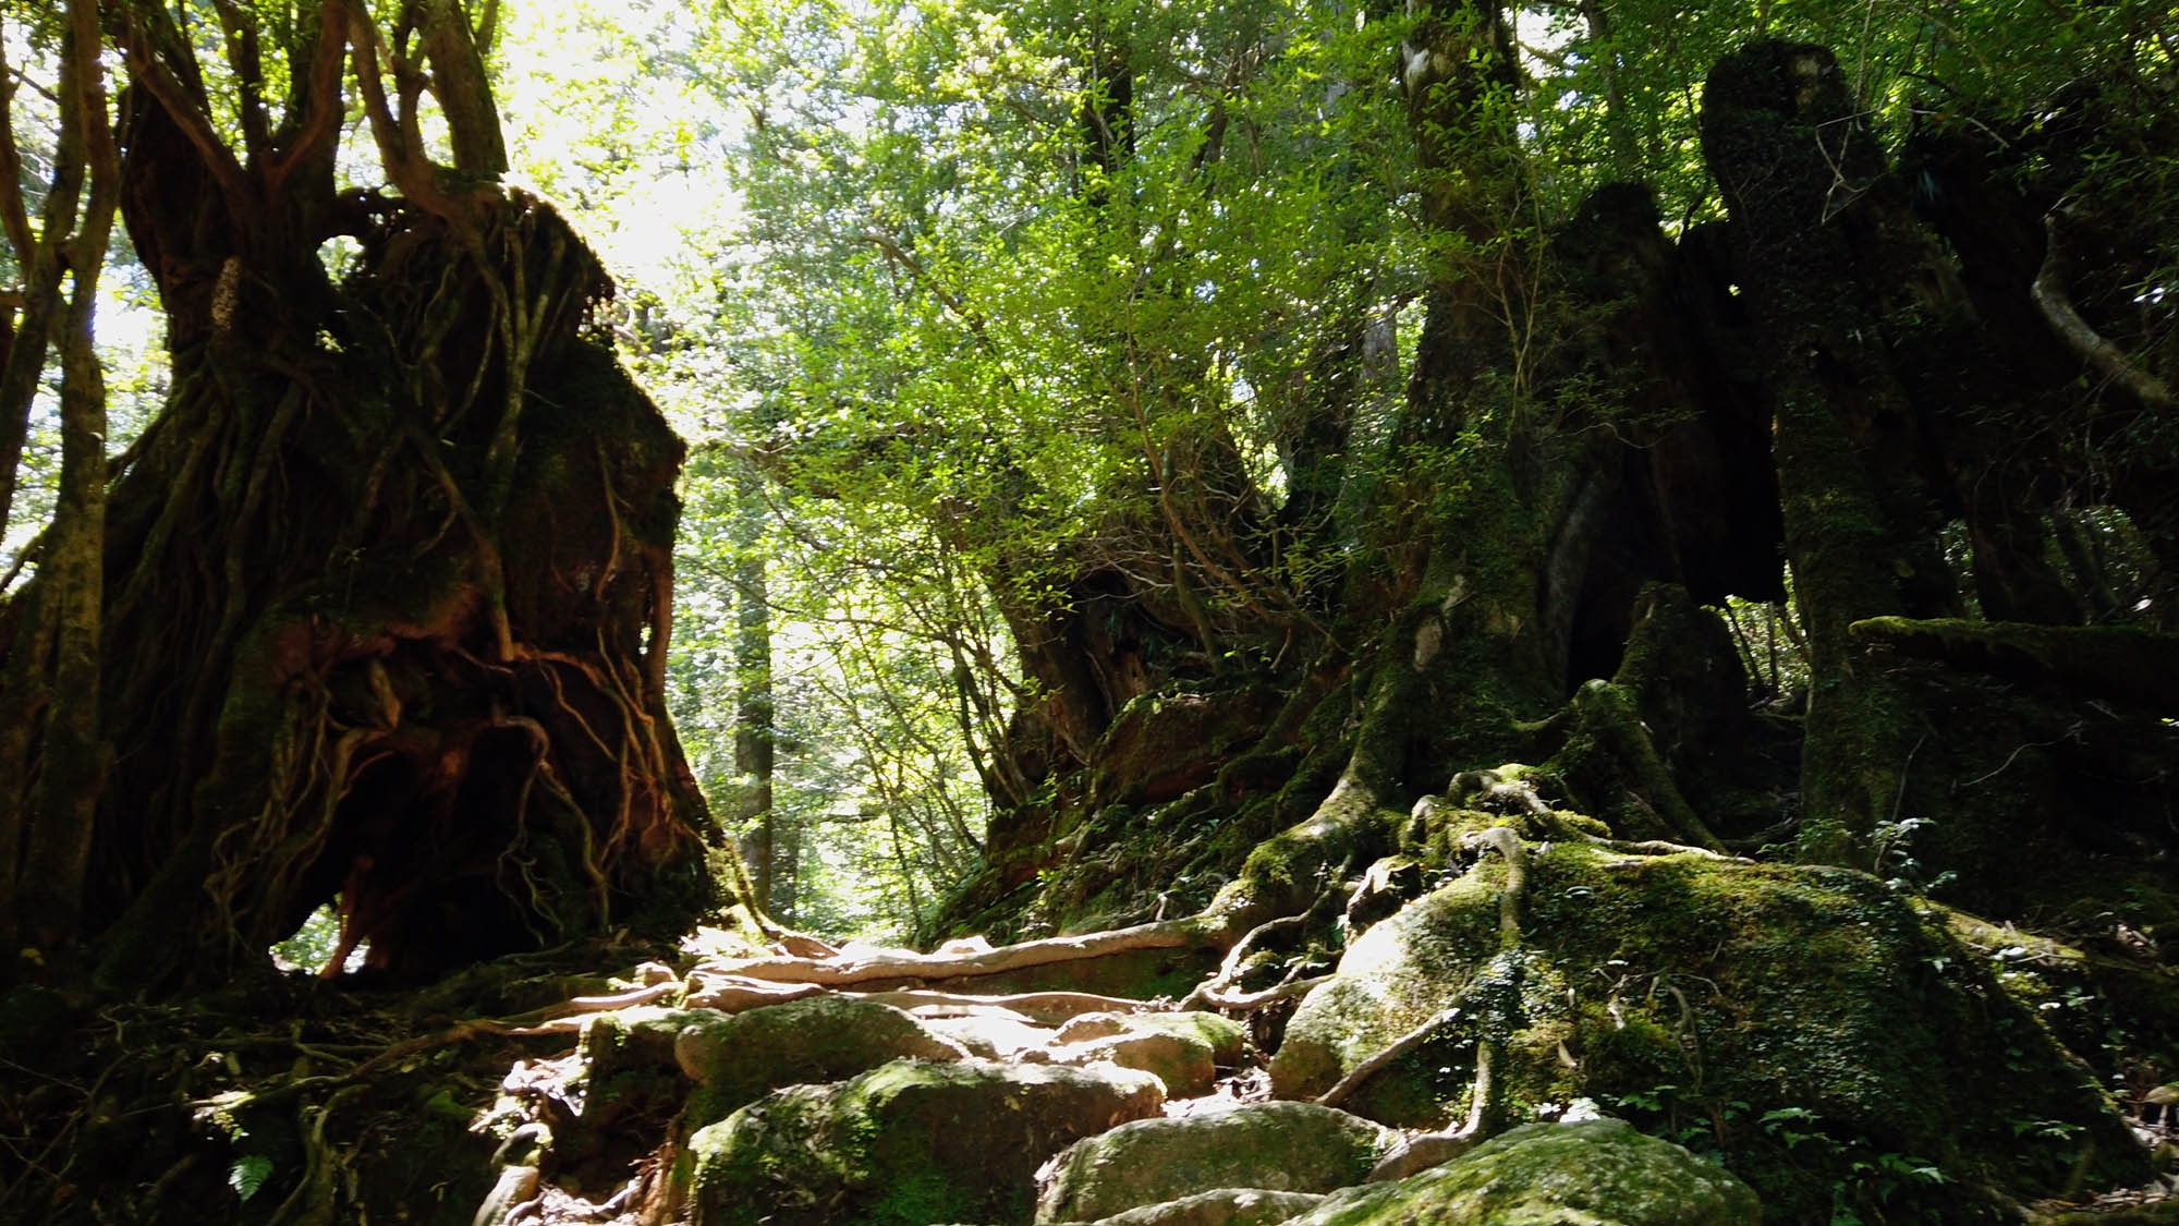
[{"label": "huge dark hollow stump with tangled exposed roots and trunks sprouting on top", "polygon": [[[39,846],[39,788],[111,755],[102,794],[63,788],[96,803],[81,879],[11,864],[13,923],[33,884],[74,901],[35,912],[48,964],[216,979],[338,897],[373,966],[429,977],[715,901],[665,716],[682,447],[591,332],[595,257],[497,183],[490,20],[107,13],[120,212],[174,390],[105,513],[96,737],[9,683],[11,846]],[[392,192],[340,183],[351,105]],[[336,236],[360,247],[338,281]],[[11,670],[85,624],[68,548],[9,602]]]}]

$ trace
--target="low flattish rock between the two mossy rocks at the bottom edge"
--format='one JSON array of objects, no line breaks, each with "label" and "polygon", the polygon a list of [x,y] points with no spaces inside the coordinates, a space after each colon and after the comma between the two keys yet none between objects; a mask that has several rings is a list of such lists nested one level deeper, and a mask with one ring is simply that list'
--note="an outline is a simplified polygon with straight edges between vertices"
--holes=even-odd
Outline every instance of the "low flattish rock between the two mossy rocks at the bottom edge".
[{"label": "low flattish rock between the two mossy rocks at the bottom edge", "polygon": [[1307,1102],[1122,1123],[1052,1158],[1039,1174],[1037,1222],[1087,1222],[1212,1189],[1331,1191],[1362,1182],[1395,1139]]}]

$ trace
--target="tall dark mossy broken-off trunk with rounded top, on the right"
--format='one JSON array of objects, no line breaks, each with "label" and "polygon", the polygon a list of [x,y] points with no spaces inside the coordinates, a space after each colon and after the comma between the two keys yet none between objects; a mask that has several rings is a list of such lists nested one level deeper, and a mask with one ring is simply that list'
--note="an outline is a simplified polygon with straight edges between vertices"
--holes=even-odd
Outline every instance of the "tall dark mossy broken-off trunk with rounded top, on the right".
[{"label": "tall dark mossy broken-off trunk with rounded top, on the right", "polygon": [[[1809,705],[1800,849],[1867,864],[1911,737],[1894,681],[1859,668],[1846,628],[1891,613],[1946,615],[1957,598],[1913,467],[1922,423],[1883,334],[1898,281],[1870,281],[1861,262],[1885,247],[1885,277],[1931,262],[1891,207],[1883,155],[1828,50],[1756,44],[1726,57],[1704,89],[1702,133],[1769,356],[1787,558],[1811,668],[1826,678]],[[1941,310],[1944,277],[1933,284],[1937,301],[1926,305]]]}]

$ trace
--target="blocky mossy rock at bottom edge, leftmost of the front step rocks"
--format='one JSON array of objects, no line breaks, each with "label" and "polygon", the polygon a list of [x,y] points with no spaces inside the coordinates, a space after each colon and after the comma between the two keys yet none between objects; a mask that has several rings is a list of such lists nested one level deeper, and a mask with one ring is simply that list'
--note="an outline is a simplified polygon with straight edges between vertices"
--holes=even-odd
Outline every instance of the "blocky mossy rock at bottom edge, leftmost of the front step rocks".
[{"label": "blocky mossy rock at bottom edge, leftmost of the front step rocks", "polygon": [[1046,1156],[1164,1097],[1129,1069],[893,1060],[697,1130],[669,1202],[695,1226],[1026,1222]]}]

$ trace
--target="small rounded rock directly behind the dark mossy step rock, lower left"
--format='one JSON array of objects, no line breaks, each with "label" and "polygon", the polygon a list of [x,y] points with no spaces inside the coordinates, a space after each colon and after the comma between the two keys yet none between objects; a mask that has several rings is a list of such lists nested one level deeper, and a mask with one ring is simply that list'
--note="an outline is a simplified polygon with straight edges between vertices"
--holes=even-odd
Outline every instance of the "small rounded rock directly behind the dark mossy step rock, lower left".
[{"label": "small rounded rock directly behind the dark mossy step rock, lower left", "polygon": [[893,1006],[826,993],[747,1012],[693,1012],[673,1038],[673,1060],[702,1086],[684,1123],[723,1119],[765,1093],[837,1082],[889,1060],[961,1060],[959,1043],[924,1030]]}]

